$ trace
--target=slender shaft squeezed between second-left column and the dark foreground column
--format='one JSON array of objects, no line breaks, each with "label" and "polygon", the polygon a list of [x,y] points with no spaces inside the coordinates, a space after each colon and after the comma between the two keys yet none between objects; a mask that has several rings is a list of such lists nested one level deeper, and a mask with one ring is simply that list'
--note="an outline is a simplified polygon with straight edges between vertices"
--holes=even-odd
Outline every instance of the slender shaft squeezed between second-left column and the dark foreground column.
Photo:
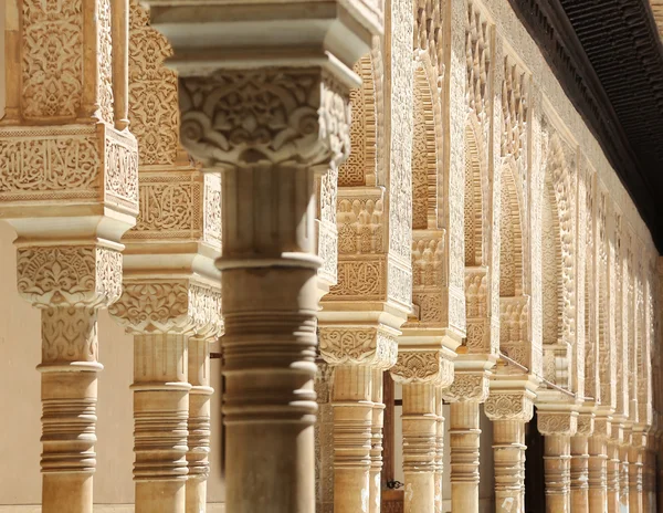
[{"label": "slender shaft squeezed between second-left column and the dark foreground column", "polygon": [[210,339],[189,338],[189,451],[187,462],[187,513],[204,513],[210,474]]}]

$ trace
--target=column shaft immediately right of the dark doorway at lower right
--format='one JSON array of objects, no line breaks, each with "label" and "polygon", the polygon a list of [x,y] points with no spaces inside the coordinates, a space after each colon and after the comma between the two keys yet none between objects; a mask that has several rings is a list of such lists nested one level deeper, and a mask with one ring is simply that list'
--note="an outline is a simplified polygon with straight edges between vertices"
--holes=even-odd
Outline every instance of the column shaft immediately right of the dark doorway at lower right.
[{"label": "column shaft immediately right of the dark doorway at lower right", "polygon": [[546,512],[567,513],[569,512],[570,437],[546,435],[544,439]]}]

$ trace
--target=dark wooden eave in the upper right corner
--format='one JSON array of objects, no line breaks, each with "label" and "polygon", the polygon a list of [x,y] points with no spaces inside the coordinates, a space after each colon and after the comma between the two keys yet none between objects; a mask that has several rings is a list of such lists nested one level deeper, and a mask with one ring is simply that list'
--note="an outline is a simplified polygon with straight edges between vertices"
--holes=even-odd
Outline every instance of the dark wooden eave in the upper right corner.
[{"label": "dark wooden eave in the upper right corner", "polygon": [[649,0],[509,0],[663,253],[663,46]]}]

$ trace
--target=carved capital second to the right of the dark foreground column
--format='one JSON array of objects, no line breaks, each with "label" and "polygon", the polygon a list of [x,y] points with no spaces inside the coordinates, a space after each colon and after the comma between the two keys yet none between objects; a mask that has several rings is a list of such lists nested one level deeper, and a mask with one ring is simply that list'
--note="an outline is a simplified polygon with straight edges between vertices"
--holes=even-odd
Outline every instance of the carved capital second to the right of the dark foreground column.
[{"label": "carved capital second to the right of the dark foreground column", "polygon": [[428,383],[446,388],[453,383],[453,362],[441,350],[399,350],[391,377],[401,385]]}]

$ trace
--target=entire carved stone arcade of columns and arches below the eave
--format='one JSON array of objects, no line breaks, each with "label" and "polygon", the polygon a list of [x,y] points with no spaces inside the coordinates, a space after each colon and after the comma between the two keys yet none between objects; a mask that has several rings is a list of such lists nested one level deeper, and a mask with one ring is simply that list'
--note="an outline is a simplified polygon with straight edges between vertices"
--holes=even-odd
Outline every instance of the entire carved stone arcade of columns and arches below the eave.
[{"label": "entire carved stone arcade of columns and arches below the eave", "polygon": [[137,512],[204,511],[210,429],[228,512],[379,512],[385,373],[404,493],[382,510],[445,511],[449,475],[477,512],[492,450],[495,510],[524,512],[536,407],[546,511],[655,511],[663,268],[508,2],[143,3],[6,13],[44,513],[93,511],[105,307],[134,337]]}]

